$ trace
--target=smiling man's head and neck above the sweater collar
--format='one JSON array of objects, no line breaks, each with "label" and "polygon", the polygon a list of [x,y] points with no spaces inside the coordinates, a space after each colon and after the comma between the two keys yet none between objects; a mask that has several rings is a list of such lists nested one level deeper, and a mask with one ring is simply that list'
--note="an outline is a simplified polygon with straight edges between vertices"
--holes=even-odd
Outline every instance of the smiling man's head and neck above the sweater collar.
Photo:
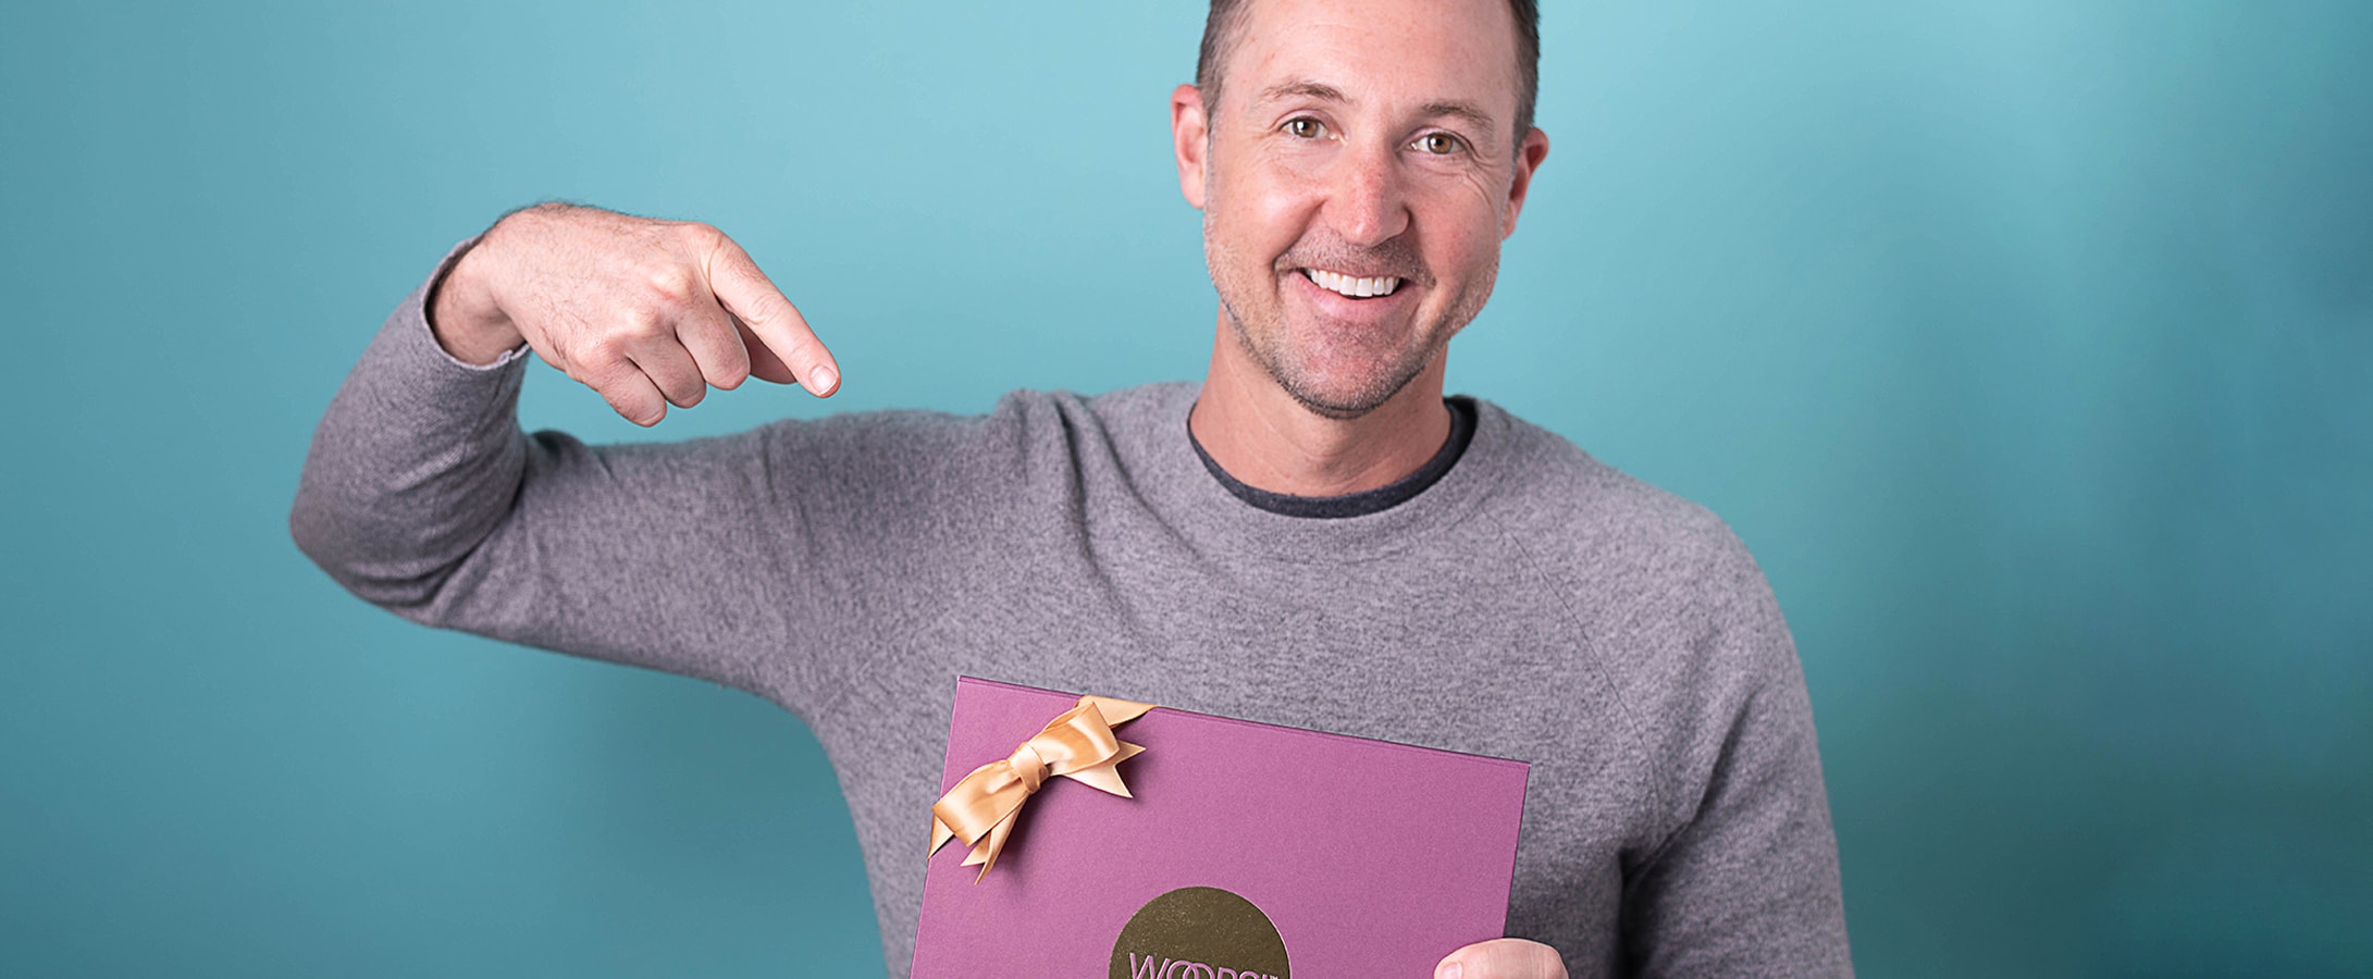
[{"label": "smiling man's head and neck above the sweater collar", "polygon": [[1400,14],[1215,2],[1198,85],[1170,97],[1220,289],[1194,431],[1267,488],[1362,491],[1443,446],[1445,346],[1550,154],[1533,24],[1502,2]]}]

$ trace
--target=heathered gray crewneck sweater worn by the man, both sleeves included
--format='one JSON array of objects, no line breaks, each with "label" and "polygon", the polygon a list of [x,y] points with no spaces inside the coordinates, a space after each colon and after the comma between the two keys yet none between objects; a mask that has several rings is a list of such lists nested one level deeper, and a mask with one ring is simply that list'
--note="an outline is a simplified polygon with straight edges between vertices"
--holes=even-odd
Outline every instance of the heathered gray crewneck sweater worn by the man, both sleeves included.
[{"label": "heathered gray crewneck sweater worn by the man, both sleeves included", "polygon": [[797,714],[895,977],[959,673],[1531,761],[1512,936],[1576,977],[1851,972],[1763,574],[1706,510],[1488,401],[1448,474],[1345,519],[1229,493],[1194,384],[584,446],[522,434],[522,358],[446,356],[425,292],[313,434],[299,548],[406,619]]}]

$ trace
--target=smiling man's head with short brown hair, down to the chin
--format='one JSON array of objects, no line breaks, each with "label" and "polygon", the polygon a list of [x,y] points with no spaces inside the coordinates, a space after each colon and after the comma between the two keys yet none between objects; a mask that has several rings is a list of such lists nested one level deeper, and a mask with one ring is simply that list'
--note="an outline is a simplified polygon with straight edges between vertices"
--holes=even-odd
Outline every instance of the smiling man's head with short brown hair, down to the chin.
[{"label": "smiling man's head with short brown hair, down to the chin", "polygon": [[1179,185],[1241,348],[1357,417],[1483,308],[1547,137],[1519,145],[1504,0],[1253,0],[1220,104],[1172,97]]}]

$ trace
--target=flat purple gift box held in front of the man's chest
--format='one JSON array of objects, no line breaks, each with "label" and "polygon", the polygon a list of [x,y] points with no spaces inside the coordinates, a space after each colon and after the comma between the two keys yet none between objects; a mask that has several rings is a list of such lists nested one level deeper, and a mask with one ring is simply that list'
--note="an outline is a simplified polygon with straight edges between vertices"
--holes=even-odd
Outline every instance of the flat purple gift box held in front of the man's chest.
[{"label": "flat purple gift box held in front of the man's chest", "polygon": [[[1073,704],[956,680],[940,792]],[[930,858],[916,979],[1431,977],[1504,932],[1526,763],[1165,706],[1115,730],[1132,799],[1051,778],[985,877],[961,839]]]}]

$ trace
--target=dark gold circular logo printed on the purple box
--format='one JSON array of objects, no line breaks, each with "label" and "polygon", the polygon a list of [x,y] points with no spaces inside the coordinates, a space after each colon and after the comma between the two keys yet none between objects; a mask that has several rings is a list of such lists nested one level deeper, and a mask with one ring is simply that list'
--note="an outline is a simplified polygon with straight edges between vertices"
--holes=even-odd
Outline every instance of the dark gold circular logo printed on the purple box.
[{"label": "dark gold circular logo printed on the purple box", "polygon": [[1137,908],[1113,941],[1113,979],[1291,979],[1286,939],[1251,901],[1179,887]]}]

